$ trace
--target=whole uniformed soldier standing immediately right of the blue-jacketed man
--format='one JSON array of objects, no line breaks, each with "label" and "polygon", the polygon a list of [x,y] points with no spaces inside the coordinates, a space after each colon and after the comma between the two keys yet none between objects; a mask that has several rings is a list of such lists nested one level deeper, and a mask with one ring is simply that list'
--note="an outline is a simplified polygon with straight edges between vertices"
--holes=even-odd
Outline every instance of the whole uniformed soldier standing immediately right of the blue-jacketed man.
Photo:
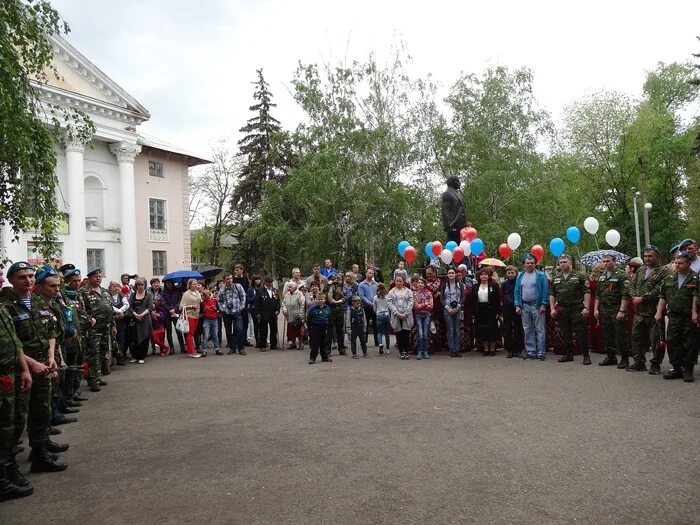
[{"label": "whole uniformed soldier standing immediately right of the blue-jacketed man", "polygon": [[566,363],[574,360],[573,333],[576,332],[576,342],[583,351],[583,364],[590,365],[591,354],[585,321],[590,313],[585,305],[590,301],[591,287],[585,274],[573,270],[570,255],[563,254],[559,257],[559,269],[561,272],[554,277],[549,294],[552,317],[559,324],[567,352],[558,361]]}]

